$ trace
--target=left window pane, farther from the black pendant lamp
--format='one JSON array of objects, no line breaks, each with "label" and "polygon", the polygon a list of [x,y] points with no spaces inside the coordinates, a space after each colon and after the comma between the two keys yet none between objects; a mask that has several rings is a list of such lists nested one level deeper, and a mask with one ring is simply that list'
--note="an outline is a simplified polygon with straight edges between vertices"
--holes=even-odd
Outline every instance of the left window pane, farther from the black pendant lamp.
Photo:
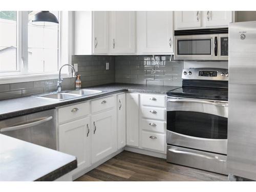
[{"label": "left window pane, farther from the black pendant lamp", "polygon": [[17,71],[17,12],[0,11],[0,72]]}]

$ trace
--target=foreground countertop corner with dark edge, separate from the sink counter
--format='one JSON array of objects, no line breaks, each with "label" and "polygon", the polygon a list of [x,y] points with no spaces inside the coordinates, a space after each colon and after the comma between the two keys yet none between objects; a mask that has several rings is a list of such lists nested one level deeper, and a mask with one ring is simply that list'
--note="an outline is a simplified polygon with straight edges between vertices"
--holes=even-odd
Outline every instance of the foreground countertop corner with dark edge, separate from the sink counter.
[{"label": "foreground countertop corner with dark edge, separate from the sink counter", "polygon": [[76,167],[75,156],[0,134],[0,181],[54,181]]}]

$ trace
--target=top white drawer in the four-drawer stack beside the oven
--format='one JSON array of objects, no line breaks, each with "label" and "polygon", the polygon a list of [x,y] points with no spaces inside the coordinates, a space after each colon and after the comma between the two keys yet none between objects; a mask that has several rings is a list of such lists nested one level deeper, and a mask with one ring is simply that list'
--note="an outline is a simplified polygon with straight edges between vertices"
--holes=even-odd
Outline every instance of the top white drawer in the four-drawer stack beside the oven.
[{"label": "top white drawer in the four-drawer stack beside the oven", "polygon": [[142,105],[159,106],[160,108],[164,108],[166,101],[165,101],[165,96],[163,95],[142,94],[141,103]]}]

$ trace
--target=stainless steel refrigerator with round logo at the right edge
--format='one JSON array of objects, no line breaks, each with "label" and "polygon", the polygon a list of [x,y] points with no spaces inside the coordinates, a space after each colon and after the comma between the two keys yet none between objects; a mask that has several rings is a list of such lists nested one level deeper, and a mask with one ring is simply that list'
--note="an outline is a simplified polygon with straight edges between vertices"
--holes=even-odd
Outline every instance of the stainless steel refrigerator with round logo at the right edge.
[{"label": "stainless steel refrigerator with round logo at the right edge", "polygon": [[229,174],[256,180],[256,22],[229,25]]}]

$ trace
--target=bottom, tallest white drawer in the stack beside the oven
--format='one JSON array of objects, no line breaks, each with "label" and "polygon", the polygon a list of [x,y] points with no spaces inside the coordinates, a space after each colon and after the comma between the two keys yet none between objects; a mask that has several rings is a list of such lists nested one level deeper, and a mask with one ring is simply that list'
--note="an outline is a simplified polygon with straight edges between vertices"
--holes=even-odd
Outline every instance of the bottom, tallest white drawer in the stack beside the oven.
[{"label": "bottom, tallest white drawer in the stack beside the oven", "polygon": [[165,134],[142,131],[141,146],[149,150],[164,152]]}]

